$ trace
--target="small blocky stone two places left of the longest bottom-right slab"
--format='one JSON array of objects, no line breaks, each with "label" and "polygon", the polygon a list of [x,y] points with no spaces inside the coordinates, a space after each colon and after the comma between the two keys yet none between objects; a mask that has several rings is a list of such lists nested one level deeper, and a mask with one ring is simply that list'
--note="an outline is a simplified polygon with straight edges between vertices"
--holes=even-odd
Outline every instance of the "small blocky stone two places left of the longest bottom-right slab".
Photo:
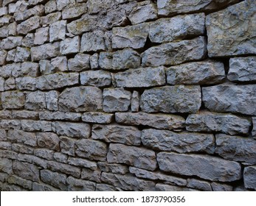
[{"label": "small blocky stone two places left of the longest bottom-right slab", "polygon": [[82,139],[76,143],[75,154],[90,160],[104,161],[107,154],[107,145],[101,141]]}]

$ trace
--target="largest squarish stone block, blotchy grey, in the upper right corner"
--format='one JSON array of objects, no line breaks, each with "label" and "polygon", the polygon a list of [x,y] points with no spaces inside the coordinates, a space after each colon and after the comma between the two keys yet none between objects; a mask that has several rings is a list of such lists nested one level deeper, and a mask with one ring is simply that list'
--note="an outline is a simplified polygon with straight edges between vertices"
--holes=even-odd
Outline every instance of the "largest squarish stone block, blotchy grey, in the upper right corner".
[{"label": "largest squarish stone block, blotchy grey, in the upper right corner", "polygon": [[256,54],[255,12],[255,1],[246,0],[207,15],[209,57]]}]

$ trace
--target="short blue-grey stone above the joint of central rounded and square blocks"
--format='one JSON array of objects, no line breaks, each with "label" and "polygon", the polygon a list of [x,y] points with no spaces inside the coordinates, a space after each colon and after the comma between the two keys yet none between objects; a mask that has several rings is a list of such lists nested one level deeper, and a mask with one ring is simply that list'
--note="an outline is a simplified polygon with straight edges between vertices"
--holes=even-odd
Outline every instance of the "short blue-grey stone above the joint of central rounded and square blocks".
[{"label": "short blue-grey stone above the joint of central rounded and square blocks", "polygon": [[111,74],[108,71],[83,71],[80,73],[81,85],[105,87],[111,85]]}]

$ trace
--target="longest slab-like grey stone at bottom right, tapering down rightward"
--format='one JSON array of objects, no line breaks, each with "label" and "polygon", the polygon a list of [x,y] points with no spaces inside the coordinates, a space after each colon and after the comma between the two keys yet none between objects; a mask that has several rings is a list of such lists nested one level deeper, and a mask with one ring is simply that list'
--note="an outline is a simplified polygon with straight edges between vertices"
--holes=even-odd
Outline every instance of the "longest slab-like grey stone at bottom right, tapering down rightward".
[{"label": "longest slab-like grey stone at bottom right, tapering down rightward", "polygon": [[241,179],[239,163],[201,154],[176,154],[160,152],[157,162],[162,171],[197,176],[205,180],[232,182]]}]

